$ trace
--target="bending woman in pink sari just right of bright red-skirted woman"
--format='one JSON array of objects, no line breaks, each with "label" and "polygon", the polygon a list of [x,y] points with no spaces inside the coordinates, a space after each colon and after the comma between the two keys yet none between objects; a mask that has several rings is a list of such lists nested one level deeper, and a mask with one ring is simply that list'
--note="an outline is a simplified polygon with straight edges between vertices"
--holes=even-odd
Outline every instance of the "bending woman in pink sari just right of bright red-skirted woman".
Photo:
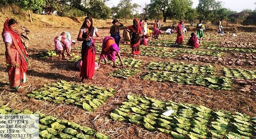
[{"label": "bending woman in pink sari just right of bright red-skirted woman", "polygon": [[114,38],[110,37],[110,36],[105,37],[103,39],[103,43],[102,43],[99,67],[101,64],[101,59],[104,59],[105,64],[107,64],[107,60],[105,59],[106,57],[108,57],[109,61],[113,62],[113,67],[117,67],[116,66],[116,53],[121,62],[122,67],[124,67],[123,63],[122,63],[122,58],[120,56],[119,47],[115,43]]}]

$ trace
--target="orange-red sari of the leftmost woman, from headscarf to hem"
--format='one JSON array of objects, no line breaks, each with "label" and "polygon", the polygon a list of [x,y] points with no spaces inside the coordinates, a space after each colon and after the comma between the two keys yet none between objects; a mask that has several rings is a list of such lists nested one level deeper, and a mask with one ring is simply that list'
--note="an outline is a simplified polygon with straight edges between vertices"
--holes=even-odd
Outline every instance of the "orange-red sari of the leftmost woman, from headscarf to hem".
[{"label": "orange-red sari of the leftmost woman, from headscarf to hem", "polygon": [[11,45],[11,57],[8,56],[7,51],[5,51],[6,63],[11,64],[11,59],[14,59],[19,67],[7,67],[10,86],[17,88],[21,86],[21,81],[24,79],[23,74],[28,71],[27,54],[25,53],[25,48],[21,43],[21,37],[10,30],[8,27],[8,22],[10,19],[6,19],[3,27],[2,36],[4,33],[9,33],[12,37],[13,45]]}]

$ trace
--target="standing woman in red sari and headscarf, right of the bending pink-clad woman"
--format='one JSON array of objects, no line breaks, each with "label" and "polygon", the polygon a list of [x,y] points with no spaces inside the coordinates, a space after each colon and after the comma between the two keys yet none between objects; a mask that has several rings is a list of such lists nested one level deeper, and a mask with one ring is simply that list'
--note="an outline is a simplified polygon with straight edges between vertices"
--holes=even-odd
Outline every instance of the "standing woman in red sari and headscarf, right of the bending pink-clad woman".
[{"label": "standing woman in red sari and headscarf, right of the bending pink-clad woman", "polygon": [[142,33],[142,29],[139,26],[138,19],[134,18],[133,25],[126,27],[127,31],[131,33],[131,53],[133,57],[135,55],[140,55],[139,50],[139,34]]}]

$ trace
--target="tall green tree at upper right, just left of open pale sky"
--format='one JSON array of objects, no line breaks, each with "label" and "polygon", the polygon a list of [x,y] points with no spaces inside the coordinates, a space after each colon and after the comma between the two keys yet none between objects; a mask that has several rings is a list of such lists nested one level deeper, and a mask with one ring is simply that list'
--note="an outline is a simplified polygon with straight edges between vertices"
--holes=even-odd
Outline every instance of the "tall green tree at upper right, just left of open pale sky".
[{"label": "tall green tree at upper right, just left of open pale sky", "polygon": [[[222,2],[215,0],[199,0],[197,12],[200,19],[209,21],[216,17],[217,11],[220,8],[222,8]],[[216,20],[216,18],[214,20]]]}]

